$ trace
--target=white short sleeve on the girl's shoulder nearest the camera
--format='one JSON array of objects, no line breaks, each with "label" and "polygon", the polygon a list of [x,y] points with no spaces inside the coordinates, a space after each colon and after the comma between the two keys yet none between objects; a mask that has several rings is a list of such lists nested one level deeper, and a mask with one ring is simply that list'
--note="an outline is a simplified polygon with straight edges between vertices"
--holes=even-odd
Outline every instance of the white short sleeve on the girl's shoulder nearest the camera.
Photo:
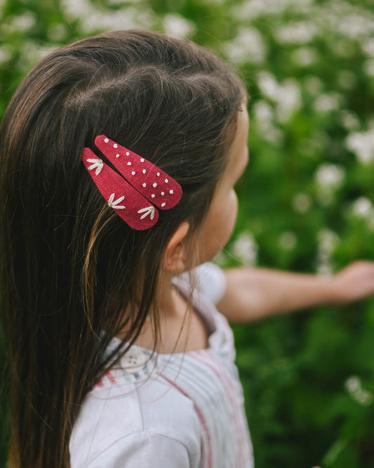
[{"label": "white short sleeve on the girl's shoulder nearest the camera", "polygon": [[150,466],[150,456],[156,468],[165,460],[199,467],[201,426],[190,398],[153,375],[124,375],[108,372],[86,396],[69,443],[72,468]]}]

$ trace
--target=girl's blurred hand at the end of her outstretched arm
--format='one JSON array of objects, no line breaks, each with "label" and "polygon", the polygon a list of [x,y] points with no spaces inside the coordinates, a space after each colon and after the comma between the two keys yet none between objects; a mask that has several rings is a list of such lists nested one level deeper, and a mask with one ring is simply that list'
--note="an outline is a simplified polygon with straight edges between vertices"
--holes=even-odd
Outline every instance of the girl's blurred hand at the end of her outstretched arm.
[{"label": "girl's blurred hand at the end of her outstretched arm", "polygon": [[359,260],[330,278],[330,302],[345,304],[374,293],[374,261]]}]

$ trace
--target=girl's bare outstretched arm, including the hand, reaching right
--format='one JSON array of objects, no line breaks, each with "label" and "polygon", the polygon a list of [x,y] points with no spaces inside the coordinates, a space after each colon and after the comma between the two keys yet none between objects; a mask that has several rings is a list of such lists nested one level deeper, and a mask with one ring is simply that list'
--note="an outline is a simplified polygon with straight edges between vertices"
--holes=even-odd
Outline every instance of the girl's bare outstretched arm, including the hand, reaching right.
[{"label": "girl's bare outstretched arm, including the hand, reaching right", "polygon": [[260,320],[319,304],[345,304],[374,293],[374,262],[355,261],[331,277],[269,268],[229,268],[217,304],[228,320]]}]

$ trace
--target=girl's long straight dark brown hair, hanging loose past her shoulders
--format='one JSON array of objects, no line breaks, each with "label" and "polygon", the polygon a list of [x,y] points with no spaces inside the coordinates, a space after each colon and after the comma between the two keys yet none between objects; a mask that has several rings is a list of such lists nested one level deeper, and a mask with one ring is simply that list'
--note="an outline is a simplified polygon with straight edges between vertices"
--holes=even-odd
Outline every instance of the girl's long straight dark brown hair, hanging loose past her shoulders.
[{"label": "girl's long straight dark brown hair, hanging loose past her shoulders", "polygon": [[[196,251],[245,95],[212,53],[142,30],[53,51],[18,87],[0,131],[9,468],[69,467],[79,405],[158,310],[161,259],[182,221]],[[182,186],[178,205],[154,227],[131,229],[87,174],[81,152],[99,134]],[[123,323],[128,305],[138,313]],[[156,313],[152,323],[158,336]],[[104,358],[123,326],[121,349]]]}]

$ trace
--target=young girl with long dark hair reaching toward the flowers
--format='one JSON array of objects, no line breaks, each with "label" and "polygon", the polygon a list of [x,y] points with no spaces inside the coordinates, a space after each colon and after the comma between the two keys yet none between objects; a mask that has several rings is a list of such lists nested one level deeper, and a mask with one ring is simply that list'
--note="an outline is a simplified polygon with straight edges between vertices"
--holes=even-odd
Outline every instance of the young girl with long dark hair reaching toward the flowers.
[{"label": "young girl with long dark hair reaching toward the flowers", "polygon": [[330,279],[210,262],[247,137],[245,86],[196,44],[100,34],[29,72],[0,134],[9,468],[253,467],[220,312],[253,320],[374,282],[369,262]]}]

